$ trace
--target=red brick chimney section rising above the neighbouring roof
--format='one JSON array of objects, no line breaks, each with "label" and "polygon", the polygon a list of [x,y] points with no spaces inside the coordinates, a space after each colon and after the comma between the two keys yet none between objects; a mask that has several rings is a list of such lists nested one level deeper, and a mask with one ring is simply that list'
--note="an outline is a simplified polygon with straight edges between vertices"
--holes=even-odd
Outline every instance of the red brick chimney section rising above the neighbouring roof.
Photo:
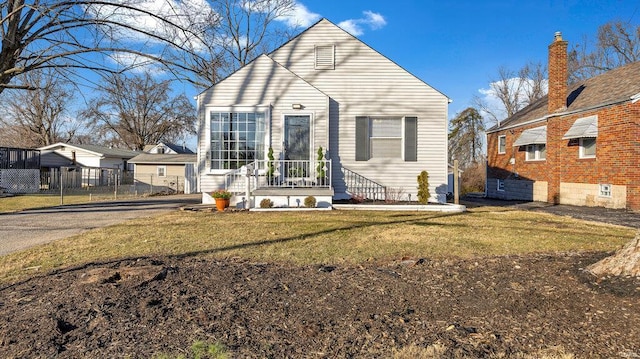
[{"label": "red brick chimney section rising above the neighbouring roof", "polygon": [[558,31],[549,45],[549,113],[567,108],[567,44]]}]

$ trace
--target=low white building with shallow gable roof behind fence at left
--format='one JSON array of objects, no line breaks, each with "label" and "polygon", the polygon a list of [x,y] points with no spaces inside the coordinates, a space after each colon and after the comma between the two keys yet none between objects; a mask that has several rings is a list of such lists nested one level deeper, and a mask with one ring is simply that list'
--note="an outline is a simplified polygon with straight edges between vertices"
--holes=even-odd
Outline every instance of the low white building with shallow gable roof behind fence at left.
[{"label": "low white building with shallow gable roof behind fence at left", "polygon": [[41,167],[45,169],[77,166],[119,168],[124,171],[133,171],[133,165],[130,165],[128,161],[139,153],[131,150],[62,142],[38,149],[40,150]]}]

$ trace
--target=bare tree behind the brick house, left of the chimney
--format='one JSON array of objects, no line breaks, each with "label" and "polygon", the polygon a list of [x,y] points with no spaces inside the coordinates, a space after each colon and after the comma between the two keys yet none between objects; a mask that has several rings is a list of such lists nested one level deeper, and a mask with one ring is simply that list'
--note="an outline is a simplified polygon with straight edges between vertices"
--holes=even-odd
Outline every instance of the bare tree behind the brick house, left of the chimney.
[{"label": "bare tree behind the brick house, left of the chimney", "polygon": [[485,97],[476,96],[474,104],[490,124],[500,123],[546,95],[547,82],[547,69],[541,63],[528,63],[517,72],[502,66],[484,91]]}]

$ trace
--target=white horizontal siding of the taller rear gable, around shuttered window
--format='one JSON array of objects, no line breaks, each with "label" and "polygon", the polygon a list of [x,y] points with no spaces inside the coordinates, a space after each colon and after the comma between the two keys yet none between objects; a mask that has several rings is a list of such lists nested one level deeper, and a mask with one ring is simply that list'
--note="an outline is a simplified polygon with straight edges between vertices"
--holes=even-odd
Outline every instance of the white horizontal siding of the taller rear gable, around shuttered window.
[{"label": "white horizontal siding of the taller rear gable, around shuttered window", "polygon": [[[335,69],[314,68],[314,46],[335,45]],[[334,179],[340,165],[415,199],[417,176],[429,172],[432,195],[444,200],[447,185],[448,99],[353,36],[321,21],[270,55],[324,93],[331,109],[330,143]],[[355,161],[356,116],[418,117],[418,161]],[[334,181],[337,196],[344,183]]]}]

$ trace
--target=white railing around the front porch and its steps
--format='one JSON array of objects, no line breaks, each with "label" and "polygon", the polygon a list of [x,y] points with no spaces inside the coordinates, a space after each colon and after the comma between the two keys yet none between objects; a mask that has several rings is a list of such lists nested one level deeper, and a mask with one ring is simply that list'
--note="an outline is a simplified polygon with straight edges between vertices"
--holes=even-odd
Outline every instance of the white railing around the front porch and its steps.
[{"label": "white railing around the front porch and its steps", "polygon": [[331,188],[331,160],[255,161],[225,175],[225,188],[245,193],[259,188]]}]

